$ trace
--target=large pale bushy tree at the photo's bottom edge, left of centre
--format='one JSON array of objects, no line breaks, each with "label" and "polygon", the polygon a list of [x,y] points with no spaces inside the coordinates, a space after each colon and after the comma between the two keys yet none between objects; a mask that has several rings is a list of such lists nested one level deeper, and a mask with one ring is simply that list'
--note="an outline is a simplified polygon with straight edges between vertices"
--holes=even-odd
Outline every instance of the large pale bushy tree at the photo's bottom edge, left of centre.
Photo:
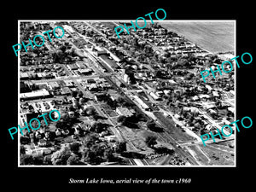
[{"label": "large pale bushy tree at the photo's bottom edge, left of centre", "polygon": [[67,165],[67,160],[70,156],[70,148],[62,147],[61,150],[51,155],[51,162],[53,165]]}]

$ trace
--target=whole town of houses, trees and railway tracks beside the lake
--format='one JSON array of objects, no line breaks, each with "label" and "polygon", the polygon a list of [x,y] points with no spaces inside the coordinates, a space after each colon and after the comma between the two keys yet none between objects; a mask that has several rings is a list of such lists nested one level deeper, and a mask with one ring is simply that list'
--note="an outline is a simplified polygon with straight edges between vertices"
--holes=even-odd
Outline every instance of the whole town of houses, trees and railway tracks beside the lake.
[{"label": "whole town of houses, trees and railway tracks beside the lake", "polygon": [[[234,52],[213,54],[161,21],[119,38],[114,28],[129,20],[19,21],[20,42],[65,31],[20,49],[20,126],[61,113],[19,134],[20,166],[235,165],[235,131],[221,131],[236,120],[235,69],[206,83],[200,76]],[[216,130],[230,137],[203,146],[201,135]]]}]

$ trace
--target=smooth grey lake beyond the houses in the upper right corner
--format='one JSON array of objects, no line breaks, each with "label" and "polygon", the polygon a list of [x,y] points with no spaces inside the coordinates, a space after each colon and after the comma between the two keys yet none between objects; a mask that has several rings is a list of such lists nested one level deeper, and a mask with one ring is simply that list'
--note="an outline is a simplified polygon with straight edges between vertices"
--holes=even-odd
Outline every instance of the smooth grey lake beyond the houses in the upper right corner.
[{"label": "smooth grey lake beyond the houses in the upper right corner", "polygon": [[235,49],[233,21],[162,21],[160,26],[213,53]]}]

